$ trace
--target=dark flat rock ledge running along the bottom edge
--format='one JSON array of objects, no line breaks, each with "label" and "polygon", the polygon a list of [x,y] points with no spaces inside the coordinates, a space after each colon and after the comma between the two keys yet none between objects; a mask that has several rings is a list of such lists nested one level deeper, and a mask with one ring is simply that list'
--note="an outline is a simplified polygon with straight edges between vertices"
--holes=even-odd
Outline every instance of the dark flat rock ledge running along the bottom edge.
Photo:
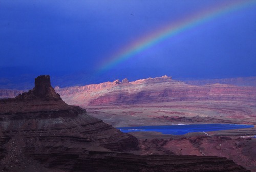
[{"label": "dark flat rock ledge running along the bottom edge", "polygon": [[[86,158],[86,161],[84,161]],[[98,166],[98,164],[101,164]],[[89,152],[77,171],[249,171],[232,160],[216,156],[168,156]]]}]

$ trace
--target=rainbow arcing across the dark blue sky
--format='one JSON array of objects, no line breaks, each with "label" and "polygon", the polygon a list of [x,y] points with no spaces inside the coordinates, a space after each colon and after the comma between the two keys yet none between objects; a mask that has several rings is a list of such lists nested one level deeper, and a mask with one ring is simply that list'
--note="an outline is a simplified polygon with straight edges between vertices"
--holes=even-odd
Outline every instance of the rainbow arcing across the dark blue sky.
[{"label": "rainbow arcing across the dark blue sky", "polygon": [[250,5],[256,4],[256,1],[248,0],[233,0],[225,1],[217,6],[204,9],[193,15],[187,16],[175,23],[170,23],[164,27],[161,27],[154,33],[140,37],[135,42],[126,45],[121,50],[112,55],[108,60],[104,61],[99,70],[105,71],[112,69],[114,66],[118,65],[122,61],[134,57],[136,54],[157,45],[159,42],[174,37],[175,35],[181,34],[182,32],[194,28],[200,24],[203,24],[211,19],[222,16],[226,13],[236,11],[241,8],[248,7]]}]

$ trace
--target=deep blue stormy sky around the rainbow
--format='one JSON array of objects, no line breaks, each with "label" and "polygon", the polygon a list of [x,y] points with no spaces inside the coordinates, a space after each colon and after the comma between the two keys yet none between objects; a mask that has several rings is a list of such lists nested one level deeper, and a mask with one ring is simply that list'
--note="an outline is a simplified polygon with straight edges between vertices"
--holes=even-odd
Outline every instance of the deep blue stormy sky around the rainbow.
[{"label": "deep blue stormy sky around the rainbow", "polygon": [[41,74],[62,87],[124,77],[256,76],[256,2],[98,73],[99,63],[140,37],[229,2],[0,0],[0,85],[15,88],[17,76],[22,82]]}]

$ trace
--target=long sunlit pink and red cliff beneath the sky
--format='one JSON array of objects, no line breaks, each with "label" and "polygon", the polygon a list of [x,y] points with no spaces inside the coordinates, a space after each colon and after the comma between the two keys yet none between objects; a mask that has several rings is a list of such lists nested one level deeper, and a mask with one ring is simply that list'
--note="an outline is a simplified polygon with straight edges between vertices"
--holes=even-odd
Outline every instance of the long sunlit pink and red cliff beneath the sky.
[{"label": "long sunlit pink and red cliff beneath the sky", "polygon": [[125,84],[105,82],[56,91],[66,102],[83,107],[198,100],[256,102],[256,87],[239,87],[229,84],[196,86],[167,76],[141,79]]}]

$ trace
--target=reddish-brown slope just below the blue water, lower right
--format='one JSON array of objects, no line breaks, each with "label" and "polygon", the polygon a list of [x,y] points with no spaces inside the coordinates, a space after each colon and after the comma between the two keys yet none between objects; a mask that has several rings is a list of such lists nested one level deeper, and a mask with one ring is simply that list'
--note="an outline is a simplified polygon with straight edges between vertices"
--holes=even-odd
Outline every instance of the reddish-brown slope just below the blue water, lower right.
[{"label": "reddish-brown slope just below the blue water, lower right", "polygon": [[[217,134],[218,133],[218,134]],[[221,156],[233,160],[251,171],[256,171],[256,139],[250,136],[238,136],[235,132],[228,134],[222,132],[207,132],[208,135],[196,134],[183,135],[170,138],[143,139],[141,149],[144,153],[157,153],[165,155],[198,155],[198,156]],[[139,134],[137,134],[138,136]],[[190,136],[190,137],[188,137]]]}]

